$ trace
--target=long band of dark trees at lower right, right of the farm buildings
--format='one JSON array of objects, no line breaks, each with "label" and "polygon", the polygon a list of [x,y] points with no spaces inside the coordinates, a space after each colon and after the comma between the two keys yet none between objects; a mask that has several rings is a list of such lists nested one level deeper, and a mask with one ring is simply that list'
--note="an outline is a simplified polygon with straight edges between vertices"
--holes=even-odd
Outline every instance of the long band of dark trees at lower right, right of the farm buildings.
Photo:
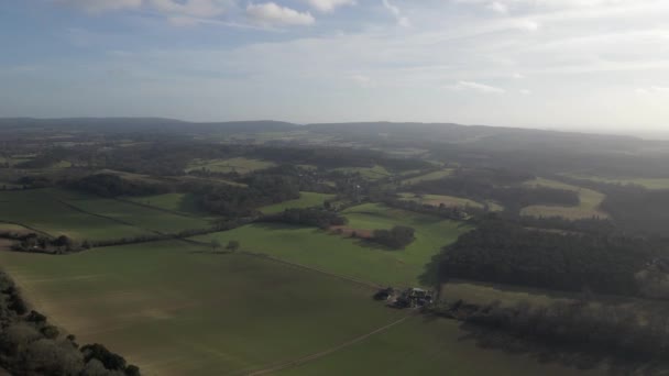
[{"label": "long band of dark trees at lower right, right of the farm buildings", "polygon": [[[669,355],[669,317],[659,311],[641,318],[628,306],[583,300],[534,306],[520,301],[473,305],[440,302],[428,312],[577,351],[614,354],[626,360],[663,360]],[[490,333],[489,333],[490,335]]]}]

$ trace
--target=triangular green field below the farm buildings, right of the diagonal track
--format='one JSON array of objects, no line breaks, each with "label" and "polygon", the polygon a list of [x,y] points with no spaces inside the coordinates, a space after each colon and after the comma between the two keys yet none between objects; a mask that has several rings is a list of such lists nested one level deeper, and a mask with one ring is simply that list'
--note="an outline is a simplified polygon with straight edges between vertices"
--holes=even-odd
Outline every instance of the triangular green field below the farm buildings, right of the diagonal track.
[{"label": "triangular green field below the farm buildings, right of the diagonal track", "polygon": [[457,321],[414,317],[350,347],[277,375],[606,375],[481,349]]}]

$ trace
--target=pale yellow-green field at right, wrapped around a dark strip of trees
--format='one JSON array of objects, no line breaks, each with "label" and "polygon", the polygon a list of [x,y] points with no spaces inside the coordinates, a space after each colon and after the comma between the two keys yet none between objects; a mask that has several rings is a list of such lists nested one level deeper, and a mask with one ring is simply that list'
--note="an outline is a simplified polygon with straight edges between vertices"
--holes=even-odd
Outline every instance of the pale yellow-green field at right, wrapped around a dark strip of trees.
[{"label": "pale yellow-green field at right, wrapped around a dark strip of trees", "polygon": [[533,217],[563,217],[567,219],[583,219],[583,218],[607,218],[608,214],[600,209],[601,203],[604,201],[606,196],[594,191],[592,189],[585,189],[560,181],[538,178],[531,181],[525,183],[528,187],[548,187],[556,189],[572,190],[579,193],[581,203],[575,207],[558,207],[558,206],[531,206],[524,208],[523,215]]}]

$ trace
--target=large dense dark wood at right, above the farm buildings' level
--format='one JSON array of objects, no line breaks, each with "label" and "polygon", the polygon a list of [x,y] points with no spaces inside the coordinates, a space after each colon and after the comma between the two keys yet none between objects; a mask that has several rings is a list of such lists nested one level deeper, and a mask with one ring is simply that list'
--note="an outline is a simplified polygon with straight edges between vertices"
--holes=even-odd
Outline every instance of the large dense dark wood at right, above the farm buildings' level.
[{"label": "large dense dark wood at right, above the farm buildings' level", "polygon": [[529,230],[498,220],[446,247],[438,280],[465,278],[536,288],[637,295],[635,275],[655,246],[639,239]]}]

